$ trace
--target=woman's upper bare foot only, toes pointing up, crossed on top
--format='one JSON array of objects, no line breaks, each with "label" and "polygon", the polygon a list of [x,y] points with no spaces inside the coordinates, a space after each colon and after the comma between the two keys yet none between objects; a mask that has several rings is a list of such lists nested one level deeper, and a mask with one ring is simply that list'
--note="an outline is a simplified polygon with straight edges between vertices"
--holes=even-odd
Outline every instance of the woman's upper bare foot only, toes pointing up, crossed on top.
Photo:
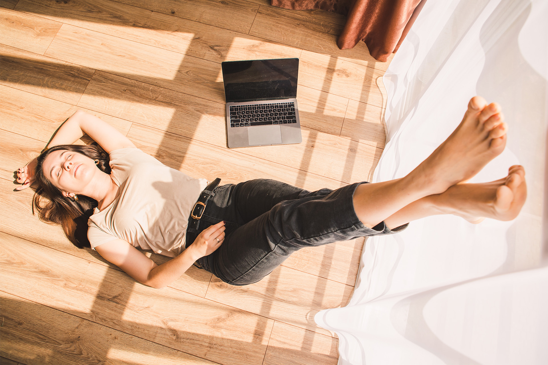
[{"label": "woman's upper bare foot only, toes pointing up, crossed on top", "polygon": [[444,192],[470,179],[490,160],[503,152],[507,125],[497,103],[487,105],[473,97],[463,121],[432,154],[413,170],[430,194]]}]

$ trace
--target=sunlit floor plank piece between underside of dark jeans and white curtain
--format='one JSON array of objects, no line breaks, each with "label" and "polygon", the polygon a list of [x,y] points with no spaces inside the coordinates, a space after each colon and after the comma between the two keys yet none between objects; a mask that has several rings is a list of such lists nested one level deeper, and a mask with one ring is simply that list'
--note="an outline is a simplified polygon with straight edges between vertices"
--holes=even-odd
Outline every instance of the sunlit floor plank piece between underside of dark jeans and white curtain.
[{"label": "sunlit floor plank piece between underside of dark jeans and white curtain", "polygon": [[363,238],[320,247],[305,247],[293,253],[282,266],[354,286],[358,275]]}]

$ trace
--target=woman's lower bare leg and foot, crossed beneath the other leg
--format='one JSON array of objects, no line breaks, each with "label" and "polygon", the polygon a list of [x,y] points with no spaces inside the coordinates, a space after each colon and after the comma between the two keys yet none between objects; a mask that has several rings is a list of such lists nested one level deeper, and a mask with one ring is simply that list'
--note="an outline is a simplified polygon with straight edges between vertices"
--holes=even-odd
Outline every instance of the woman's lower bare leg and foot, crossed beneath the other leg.
[{"label": "woman's lower bare leg and foot, crossed beneath the other leg", "polygon": [[426,196],[385,219],[389,228],[439,214],[453,214],[471,223],[484,217],[510,221],[520,212],[527,196],[525,171],[512,166],[508,176],[482,184],[456,184],[442,194]]}]

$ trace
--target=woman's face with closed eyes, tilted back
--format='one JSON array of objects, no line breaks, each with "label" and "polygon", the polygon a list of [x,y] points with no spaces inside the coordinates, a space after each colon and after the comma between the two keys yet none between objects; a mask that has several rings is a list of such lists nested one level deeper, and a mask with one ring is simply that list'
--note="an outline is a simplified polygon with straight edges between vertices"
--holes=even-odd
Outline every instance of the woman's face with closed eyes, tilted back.
[{"label": "woman's face with closed eyes, tilted back", "polygon": [[100,171],[89,157],[64,149],[50,153],[42,168],[45,178],[65,196],[69,196],[69,193],[85,193],[95,173]]}]

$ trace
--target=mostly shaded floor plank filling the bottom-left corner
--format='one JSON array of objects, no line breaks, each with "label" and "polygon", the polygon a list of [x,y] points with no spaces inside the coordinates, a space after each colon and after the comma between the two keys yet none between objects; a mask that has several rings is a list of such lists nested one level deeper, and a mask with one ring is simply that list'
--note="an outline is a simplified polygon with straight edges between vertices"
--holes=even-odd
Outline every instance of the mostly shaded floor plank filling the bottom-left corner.
[{"label": "mostly shaded floor plank filling the bottom-left corner", "polygon": [[0,303],[1,353],[22,363],[216,364],[9,293],[0,292]]}]

